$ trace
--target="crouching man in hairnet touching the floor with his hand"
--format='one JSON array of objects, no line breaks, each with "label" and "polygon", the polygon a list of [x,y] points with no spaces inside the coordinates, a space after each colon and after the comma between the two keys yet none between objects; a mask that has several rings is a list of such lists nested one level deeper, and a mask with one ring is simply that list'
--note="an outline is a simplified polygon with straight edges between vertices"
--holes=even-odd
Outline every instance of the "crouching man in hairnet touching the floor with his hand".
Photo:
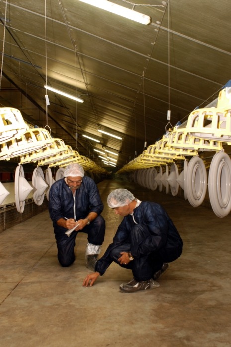
[{"label": "crouching man in hairnet touching the floor with his hand", "polygon": [[86,276],[83,286],[91,287],[114,261],[131,269],[134,276],[130,282],[120,285],[120,291],[130,293],[158,287],[155,280],[182,253],[183,241],[172,220],[161,205],[142,202],[127,189],[113,190],[107,203],[124,219],[113,242],[97,261],[95,272]]}]

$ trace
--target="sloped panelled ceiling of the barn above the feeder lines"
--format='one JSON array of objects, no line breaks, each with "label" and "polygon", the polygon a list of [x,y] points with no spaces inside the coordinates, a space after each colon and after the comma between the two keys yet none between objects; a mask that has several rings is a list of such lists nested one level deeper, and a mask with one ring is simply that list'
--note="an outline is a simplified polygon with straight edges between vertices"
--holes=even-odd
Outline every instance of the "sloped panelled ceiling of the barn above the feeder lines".
[{"label": "sloped panelled ceiling of the barn above the feeder lines", "polygon": [[[97,164],[95,147],[120,152],[117,169],[141,154],[145,141],[150,145],[163,135],[168,109],[175,125],[206,106],[231,78],[231,2],[136,4],[134,10],[150,15],[152,24],[78,0],[0,1],[1,106],[18,108],[33,124],[49,125],[53,135]],[[80,95],[84,103],[47,92],[46,83]],[[84,139],[84,133],[100,143]]]}]

